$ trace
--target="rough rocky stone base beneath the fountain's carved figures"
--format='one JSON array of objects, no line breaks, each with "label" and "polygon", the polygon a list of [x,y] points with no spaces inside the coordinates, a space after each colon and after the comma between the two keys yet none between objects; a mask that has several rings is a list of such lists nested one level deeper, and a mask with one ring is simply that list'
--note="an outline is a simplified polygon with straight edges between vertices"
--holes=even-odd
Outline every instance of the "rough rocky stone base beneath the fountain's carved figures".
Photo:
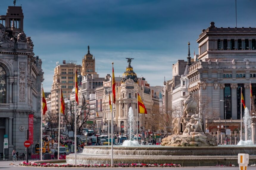
[{"label": "rough rocky stone base beneath the fountain's carved figures", "polygon": [[189,134],[171,135],[162,139],[162,146],[217,146],[213,136],[204,132],[191,132]]}]

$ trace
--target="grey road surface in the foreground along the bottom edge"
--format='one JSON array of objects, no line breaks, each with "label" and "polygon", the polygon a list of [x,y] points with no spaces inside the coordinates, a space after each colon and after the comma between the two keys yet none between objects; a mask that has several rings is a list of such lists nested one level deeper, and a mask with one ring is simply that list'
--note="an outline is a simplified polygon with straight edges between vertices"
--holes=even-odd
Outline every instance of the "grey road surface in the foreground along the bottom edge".
[{"label": "grey road surface in the foreground along the bottom edge", "polygon": [[[74,169],[81,169],[81,168],[44,168],[44,167],[27,167],[27,166],[18,166],[20,163],[20,161],[17,162],[13,162],[13,161],[0,161],[0,170],[40,170],[40,169],[44,169],[44,170],[48,170],[48,169],[65,169],[65,170],[74,170]],[[82,168],[82,169],[104,169],[104,170],[113,170],[113,169],[122,169],[122,170],[128,170],[128,169],[132,169],[132,170],[141,170],[141,169],[150,169],[150,170],[154,170],[154,169],[161,169],[161,170],[170,170],[170,169],[179,169],[179,170],[239,170],[239,167],[166,167],[166,168],[160,168],[160,167],[140,167],[140,168]],[[248,167],[248,170],[256,170],[256,166],[254,167]]]}]

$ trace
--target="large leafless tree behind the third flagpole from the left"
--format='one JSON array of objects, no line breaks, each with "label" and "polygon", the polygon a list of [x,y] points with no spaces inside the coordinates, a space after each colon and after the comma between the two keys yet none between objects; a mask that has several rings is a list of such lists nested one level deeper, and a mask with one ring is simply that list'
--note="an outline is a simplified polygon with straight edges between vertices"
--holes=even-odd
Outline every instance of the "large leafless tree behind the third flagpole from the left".
[{"label": "large leafless tree behind the third flagpole from the left", "polygon": [[89,117],[89,112],[86,110],[86,104],[83,103],[81,106],[77,106],[75,112],[74,101],[65,104],[65,114],[63,115],[63,120],[67,126],[68,131],[74,131],[75,129],[75,115],[77,116],[77,134],[81,134],[83,126]]}]

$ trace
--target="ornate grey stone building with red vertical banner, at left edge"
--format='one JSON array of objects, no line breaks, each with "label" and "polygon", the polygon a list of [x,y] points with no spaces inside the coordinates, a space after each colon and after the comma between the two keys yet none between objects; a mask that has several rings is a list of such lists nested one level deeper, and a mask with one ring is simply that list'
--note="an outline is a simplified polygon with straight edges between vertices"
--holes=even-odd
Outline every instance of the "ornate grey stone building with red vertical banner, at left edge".
[{"label": "ornate grey stone building with red vertical banner, at left edge", "polygon": [[25,152],[26,129],[31,130],[30,151],[40,138],[42,61],[33,53],[23,19],[22,8],[17,6],[9,6],[6,15],[0,15],[0,153],[3,137],[8,135],[5,155],[10,157],[13,149]]}]

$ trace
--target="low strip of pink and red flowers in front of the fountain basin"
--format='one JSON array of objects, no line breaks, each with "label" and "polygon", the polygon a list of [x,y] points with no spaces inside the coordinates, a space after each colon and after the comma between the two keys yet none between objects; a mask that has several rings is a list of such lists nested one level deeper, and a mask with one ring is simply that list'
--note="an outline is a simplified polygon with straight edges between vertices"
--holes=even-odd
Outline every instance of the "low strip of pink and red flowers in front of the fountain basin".
[{"label": "low strip of pink and red flowers in front of the fountain basin", "polygon": [[[99,167],[110,167],[110,164],[79,164],[75,166],[74,164],[54,164],[54,163],[26,163],[21,162],[19,164],[20,166],[38,166],[38,167],[82,167],[82,168],[99,168]],[[180,164],[173,164],[173,163],[164,163],[164,164],[146,164],[146,163],[132,163],[132,164],[127,164],[127,163],[119,163],[119,164],[114,164],[113,167],[179,167]]]}]

